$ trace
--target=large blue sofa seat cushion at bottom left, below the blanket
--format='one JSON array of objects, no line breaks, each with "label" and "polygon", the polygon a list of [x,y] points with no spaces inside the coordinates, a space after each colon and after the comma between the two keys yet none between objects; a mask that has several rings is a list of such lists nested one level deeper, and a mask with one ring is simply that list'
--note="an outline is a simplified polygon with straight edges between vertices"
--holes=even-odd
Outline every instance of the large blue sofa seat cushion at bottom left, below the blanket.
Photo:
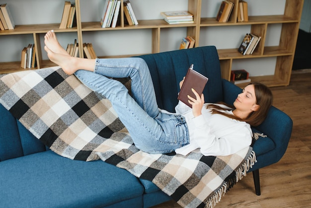
[{"label": "large blue sofa seat cushion at bottom left, below the blanket", "polygon": [[133,198],[138,207],[143,204],[139,180],[100,160],[45,151],[2,161],[0,176],[2,207],[105,207]]}]

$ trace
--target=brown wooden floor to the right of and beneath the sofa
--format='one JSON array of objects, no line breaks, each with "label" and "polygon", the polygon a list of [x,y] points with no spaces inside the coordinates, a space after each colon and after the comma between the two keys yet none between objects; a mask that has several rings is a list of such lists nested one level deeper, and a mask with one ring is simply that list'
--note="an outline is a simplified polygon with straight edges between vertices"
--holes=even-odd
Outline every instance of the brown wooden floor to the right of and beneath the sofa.
[{"label": "brown wooden floor to the right of and beneath the sofa", "polygon": [[[293,71],[288,87],[271,88],[274,106],[294,121],[283,158],[259,170],[261,196],[249,173],[222,197],[216,208],[311,208],[311,70]],[[170,201],[153,208],[181,208]]]}]

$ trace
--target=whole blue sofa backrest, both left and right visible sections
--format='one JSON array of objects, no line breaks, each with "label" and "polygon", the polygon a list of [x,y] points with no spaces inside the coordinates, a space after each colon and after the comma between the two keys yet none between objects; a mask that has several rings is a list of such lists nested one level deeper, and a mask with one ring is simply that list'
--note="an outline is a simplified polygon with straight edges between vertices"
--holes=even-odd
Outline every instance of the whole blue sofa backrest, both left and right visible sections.
[{"label": "whole blue sofa backrest, both left and right visible sections", "polygon": [[[140,56],[151,71],[158,106],[174,112],[178,103],[179,82],[191,64],[207,76],[205,102],[223,101],[222,79],[217,50],[214,46],[198,47]],[[47,147],[33,136],[0,104],[0,161],[42,152]]]}]

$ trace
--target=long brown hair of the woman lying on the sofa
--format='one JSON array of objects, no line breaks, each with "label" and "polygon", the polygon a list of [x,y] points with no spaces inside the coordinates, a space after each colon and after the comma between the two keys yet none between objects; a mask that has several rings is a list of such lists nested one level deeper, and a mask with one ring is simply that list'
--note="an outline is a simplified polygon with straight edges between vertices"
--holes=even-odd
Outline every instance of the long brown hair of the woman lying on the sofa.
[{"label": "long brown hair of the woman lying on the sofa", "polygon": [[[273,95],[272,95],[271,90],[267,86],[261,83],[254,82],[248,85],[254,86],[256,104],[259,105],[259,108],[257,111],[252,111],[251,113],[249,113],[249,115],[245,119],[241,119],[233,114],[226,113],[226,110],[228,110],[228,108],[222,107],[216,104],[209,104],[207,108],[210,108],[212,110],[212,113],[222,114],[229,118],[233,118],[233,119],[240,120],[240,121],[245,121],[252,126],[258,126],[260,123],[264,121],[264,119],[266,118],[268,114],[269,108],[271,107],[272,102],[273,102]],[[220,103],[220,104],[225,104],[225,103]],[[225,104],[225,105],[227,107],[234,109],[234,107],[231,105],[228,105],[228,104]]]}]

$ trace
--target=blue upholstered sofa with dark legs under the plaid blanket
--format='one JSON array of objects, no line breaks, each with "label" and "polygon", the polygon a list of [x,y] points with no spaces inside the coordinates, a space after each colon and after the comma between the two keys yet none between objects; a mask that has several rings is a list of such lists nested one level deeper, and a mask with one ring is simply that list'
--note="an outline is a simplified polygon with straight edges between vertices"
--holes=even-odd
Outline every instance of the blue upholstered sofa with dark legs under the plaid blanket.
[{"label": "blue upholstered sofa with dark legs under the plaid blanket", "polygon": [[[150,67],[159,107],[168,111],[174,111],[179,81],[190,64],[209,77],[204,90],[206,102],[233,104],[241,91],[221,78],[214,46],[140,57]],[[126,170],[103,161],[76,161],[55,154],[1,104],[0,117],[0,208],[148,208],[171,200],[152,182],[140,180]],[[266,120],[253,129],[267,135],[253,144],[258,162],[249,172],[255,173],[257,194],[259,168],[281,159],[292,125],[289,116],[271,107]]]}]

